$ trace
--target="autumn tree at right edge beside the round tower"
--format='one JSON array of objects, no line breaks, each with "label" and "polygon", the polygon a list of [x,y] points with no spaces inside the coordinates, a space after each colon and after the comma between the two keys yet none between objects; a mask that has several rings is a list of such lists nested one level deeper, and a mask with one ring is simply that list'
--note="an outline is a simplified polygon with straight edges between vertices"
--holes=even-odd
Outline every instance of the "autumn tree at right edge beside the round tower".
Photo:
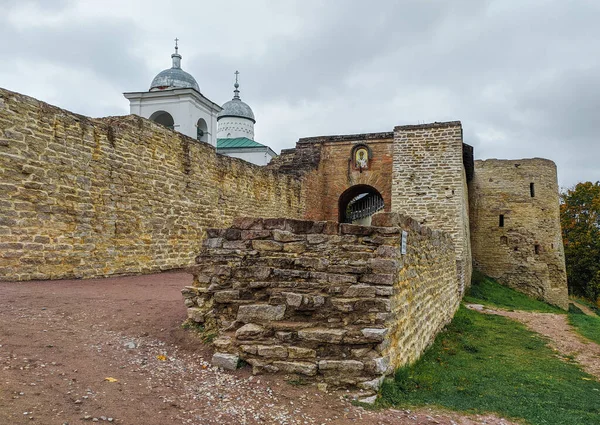
[{"label": "autumn tree at right edge beside the round tower", "polygon": [[571,294],[600,301],[600,182],[578,183],[561,193],[567,279]]}]

